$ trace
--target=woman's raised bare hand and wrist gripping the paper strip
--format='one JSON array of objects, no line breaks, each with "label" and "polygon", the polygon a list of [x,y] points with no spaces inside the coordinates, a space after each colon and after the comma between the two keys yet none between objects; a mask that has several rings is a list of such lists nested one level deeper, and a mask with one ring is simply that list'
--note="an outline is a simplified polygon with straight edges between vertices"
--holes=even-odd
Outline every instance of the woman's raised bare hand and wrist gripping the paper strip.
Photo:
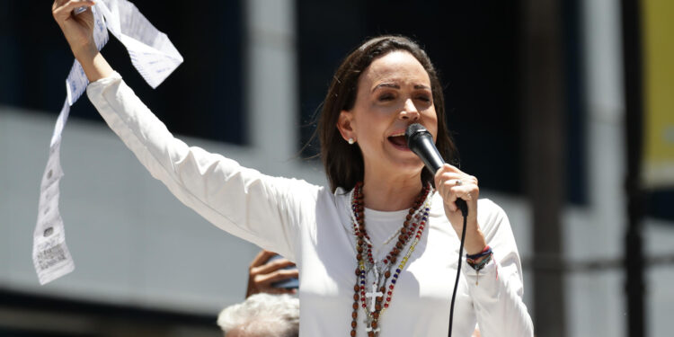
[{"label": "woman's raised bare hand and wrist gripping the paper strip", "polygon": [[[112,67],[103,58],[93,41],[93,13],[95,3],[89,0],[56,0],[51,7],[51,13],[58,27],[66,36],[73,55],[84,68],[84,74],[90,82],[112,75]],[[73,10],[78,7],[87,7],[83,13],[76,14]]]}]

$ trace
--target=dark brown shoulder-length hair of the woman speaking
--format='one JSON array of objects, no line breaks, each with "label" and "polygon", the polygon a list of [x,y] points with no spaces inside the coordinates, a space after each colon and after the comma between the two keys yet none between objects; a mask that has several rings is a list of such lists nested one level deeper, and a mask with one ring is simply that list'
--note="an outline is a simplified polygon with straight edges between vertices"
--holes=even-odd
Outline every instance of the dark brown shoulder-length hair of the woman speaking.
[{"label": "dark brown shoulder-length hair of the woman speaking", "polygon": [[[456,155],[456,146],[449,137],[445,123],[445,101],[442,94],[438,74],[430,63],[426,52],[414,41],[403,36],[380,36],[365,41],[358,49],[354,49],[344,59],[333,75],[328,93],[325,95],[323,109],[316,129],[321,142],[321,157],[330,182],[330,189],[334,192],[338,187],[352,189],[356,182],[363,180],[365,167],[363,155],[359,146],[350,146],[341,137],[337,129],[337,121],[342,110],[350,111],[356,102],[358,81],[360,74],[374,61],[386,54],[404,50],[412,54],[430,77],[430,89],[433,94],[433,104],[438,117],[438,137],[436,146],[440,155],[447,160],[453,160]],[[433,184],[433,175],[428,170],[421,173],[422,182]]]}]

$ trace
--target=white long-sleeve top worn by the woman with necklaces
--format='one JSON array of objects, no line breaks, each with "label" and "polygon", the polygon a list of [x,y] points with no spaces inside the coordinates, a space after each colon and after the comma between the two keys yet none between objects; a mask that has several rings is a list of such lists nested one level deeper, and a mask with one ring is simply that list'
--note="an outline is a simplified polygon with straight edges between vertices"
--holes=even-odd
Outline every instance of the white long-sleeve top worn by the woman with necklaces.
[{"label": "white long-sleeve top worn by the woman with necklaces", "polygon": [[[297,263],[300,336],[349,335],[357,267],[349,191],[333,193],[305,181],[271,177],[185,145],[117,73],[89,84],[87,94],[110,128],[182,203],[226,232]],[[386,239],[395,235],[406,214],[365,210],[378,258],[395,244]],[[462,264],[452,335],[470,336],[479,324],[484,337],[533,336],[508,217],[491,200],[479,200],[477,219],[493,259],[479,276]],[[428,223],[379,318],[381,337],[448,333],[459,238],[437,193]],[[367,336],[363,310],[359,308],[358,336]]]}]

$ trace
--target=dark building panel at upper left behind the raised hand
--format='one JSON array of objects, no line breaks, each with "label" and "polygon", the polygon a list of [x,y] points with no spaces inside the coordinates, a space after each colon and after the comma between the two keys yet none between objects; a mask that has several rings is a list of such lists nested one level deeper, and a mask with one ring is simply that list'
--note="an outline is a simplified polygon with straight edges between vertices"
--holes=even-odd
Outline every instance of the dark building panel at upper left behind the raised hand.
[{"label": "dark building panel at upper left behind the raised hand", "polygon": [[[131,65],[124,46],[109,34],[102,52],[111,66],[173,132],[244,144],[242,3],[133,3],[169,36],[184,62],[153,90]],[[0,4],[0,103],[58,114],[74,58],[50,4]],[[102,121],[84,96],[73,105],[71,116]]]}]

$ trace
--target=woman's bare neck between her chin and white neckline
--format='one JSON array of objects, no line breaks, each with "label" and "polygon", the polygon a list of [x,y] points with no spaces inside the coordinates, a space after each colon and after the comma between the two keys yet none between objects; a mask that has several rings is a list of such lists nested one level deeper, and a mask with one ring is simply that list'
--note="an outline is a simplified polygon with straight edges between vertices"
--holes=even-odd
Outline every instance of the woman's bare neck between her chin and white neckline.
[{"label": "woman's bare neck between her chin and white neckline", "polygon": [[366,208],[395,211],[412,208],[421,192],[421,173],[386,177],[368,174],[363,180],[363,200]]}]

